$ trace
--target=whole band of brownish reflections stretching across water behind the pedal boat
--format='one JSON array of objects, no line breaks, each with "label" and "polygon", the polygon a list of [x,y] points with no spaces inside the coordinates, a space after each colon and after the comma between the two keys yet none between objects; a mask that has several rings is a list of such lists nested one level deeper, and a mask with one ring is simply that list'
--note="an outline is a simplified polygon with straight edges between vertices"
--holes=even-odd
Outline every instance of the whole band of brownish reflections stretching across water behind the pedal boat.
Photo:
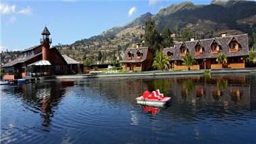
[{"label": "whole band of brownish reflections stretching across water behind the pedal boat", "polygon": [[[116,82],[116,81],[121,82]],[[250,104],[250,84],[248,76],[213,76],[203,78],[193,76],[192,78],[120,78],[95,79],[90,83],[90,88],[98,87],[114,100],[120,98],[135,102],[135,98],[145,90],[159,88],[166,96],[174,97],[179,102],[191,102],[194,105],[203,102],[204,104],[218,102],[224,106]],[[98,89],[97,89],[98,90]]]}]

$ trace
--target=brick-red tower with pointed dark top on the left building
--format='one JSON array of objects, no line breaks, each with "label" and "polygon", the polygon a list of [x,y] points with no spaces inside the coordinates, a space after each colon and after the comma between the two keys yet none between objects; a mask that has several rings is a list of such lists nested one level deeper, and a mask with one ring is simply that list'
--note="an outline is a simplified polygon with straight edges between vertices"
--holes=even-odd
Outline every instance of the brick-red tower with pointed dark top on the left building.
[{"label": "brick-red tower with pointed dark top on the left building", "polygon": [[40,43],[42,44],[42,60],[50,60],[50,45],[52,43],[52,39],[49,38],[51,35],[50,31],[47,27],[44,27],[42,31],[42,38],[40,38]]}]

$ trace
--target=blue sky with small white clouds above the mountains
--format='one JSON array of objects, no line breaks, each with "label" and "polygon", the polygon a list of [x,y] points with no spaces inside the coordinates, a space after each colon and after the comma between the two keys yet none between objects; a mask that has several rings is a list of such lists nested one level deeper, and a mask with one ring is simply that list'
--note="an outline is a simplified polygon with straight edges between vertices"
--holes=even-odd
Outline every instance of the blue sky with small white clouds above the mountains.
[{"label": "blue sky with small white clouds above the mountains", "polygon": [[[46,25],[53,44],[72,44],[114,26],[122,26],[146,12],[181,3],[181,0],[55,0],[1,1],[1,50],[24,50],[39,43]],[[210,0],[195,0],[209,4]]]}]

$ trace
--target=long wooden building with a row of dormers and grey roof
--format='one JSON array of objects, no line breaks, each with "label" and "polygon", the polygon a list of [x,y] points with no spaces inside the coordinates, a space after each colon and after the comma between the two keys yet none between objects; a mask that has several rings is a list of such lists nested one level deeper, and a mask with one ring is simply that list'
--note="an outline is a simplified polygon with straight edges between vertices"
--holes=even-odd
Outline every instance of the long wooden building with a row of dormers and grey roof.
[{"label": "long wooden building with a row of dormers and grey roof", "polygon": [[[191,70],[245,68],[245,60],[249,56],[248,34],[226,36],[226,33],[222,33],[220,38],[204,40],[191,38],[190,42],[174,44],[174,48],[164,48],[164,54],[168,56],[174,70],[188,69],[183,64],[183,58],[188,53],[195,58]],[[227,56],[226,67],[216,62],[218,54]]]}]

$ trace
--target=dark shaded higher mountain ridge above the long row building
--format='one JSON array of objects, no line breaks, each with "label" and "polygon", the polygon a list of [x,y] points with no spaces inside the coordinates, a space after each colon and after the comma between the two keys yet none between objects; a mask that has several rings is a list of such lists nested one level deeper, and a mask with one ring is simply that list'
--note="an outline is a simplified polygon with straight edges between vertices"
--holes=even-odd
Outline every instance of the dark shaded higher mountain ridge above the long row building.
[{"label": "dark shaded higher mountain ridge above the long row building", "polygon": [[[171,5],[152,17],[158,29],[190,28],[196,34],[218,36],[221,32],[249,33],[256,31],[256,2],[214,1],[210,5],[191,2]],[[213,33],[213,35],[211,35]]]}]

